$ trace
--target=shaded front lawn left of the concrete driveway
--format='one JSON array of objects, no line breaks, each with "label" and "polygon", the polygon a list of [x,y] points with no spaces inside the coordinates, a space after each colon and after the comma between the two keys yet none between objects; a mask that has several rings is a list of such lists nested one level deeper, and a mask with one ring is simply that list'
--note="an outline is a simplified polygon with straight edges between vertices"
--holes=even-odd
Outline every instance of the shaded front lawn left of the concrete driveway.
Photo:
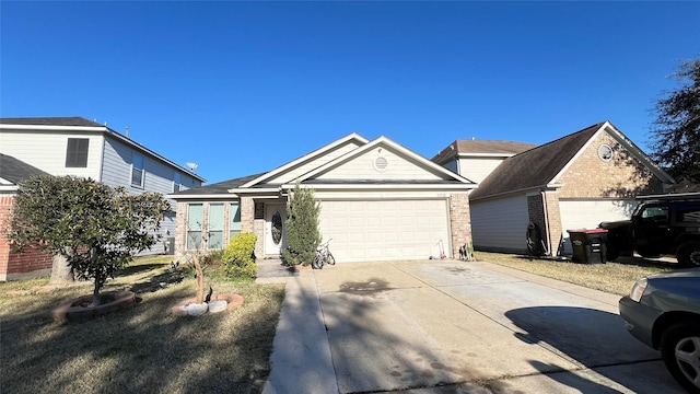
[{"label": "shaded front lawn left of the concrete driveway", "polygon": [[10,393],[258,393],[284,297],[283,285],[206,276],[214,293],[234,292],[231,313],[174,316],[195,278],[168,274],[171,258],[141,258],[103,291],[131,290],[135,306],[81,323],[55,323],[61,301],[91,283],[51,288],[48,279],[0,282],[0,390]]}]

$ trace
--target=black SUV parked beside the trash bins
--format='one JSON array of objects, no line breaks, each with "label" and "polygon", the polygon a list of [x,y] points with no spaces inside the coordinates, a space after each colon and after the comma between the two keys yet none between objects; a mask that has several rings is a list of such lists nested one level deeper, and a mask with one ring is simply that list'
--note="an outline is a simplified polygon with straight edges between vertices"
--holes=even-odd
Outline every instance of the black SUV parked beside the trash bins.
[{"label": "black SUV parked beside the trash bins", "polygon": [[700,267],[700,193],[638,197],[630,220],[603,222],[607,259],[637,252],[643,257],[676,255],[685,267]]}]

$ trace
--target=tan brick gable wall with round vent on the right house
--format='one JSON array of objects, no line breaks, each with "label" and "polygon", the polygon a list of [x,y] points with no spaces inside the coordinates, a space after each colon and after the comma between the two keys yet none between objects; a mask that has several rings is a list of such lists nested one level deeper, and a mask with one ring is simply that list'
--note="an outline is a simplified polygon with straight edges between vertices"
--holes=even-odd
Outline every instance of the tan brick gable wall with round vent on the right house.
[{"label": "tan brick gable wall with round vent on the right house", "polygon": [[[612,148],[609,161],[598,158],[600,144]],[[559,198],[632,198],[663,193],[662,182],[610,135],[602,132],[558,179]]]}]

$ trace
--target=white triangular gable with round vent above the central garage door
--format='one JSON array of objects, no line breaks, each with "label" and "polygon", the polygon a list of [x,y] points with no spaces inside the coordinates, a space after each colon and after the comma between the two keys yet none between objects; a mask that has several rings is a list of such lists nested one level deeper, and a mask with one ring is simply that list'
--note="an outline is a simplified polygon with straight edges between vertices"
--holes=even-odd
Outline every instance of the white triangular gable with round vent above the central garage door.
[{"label": "white triangular gable with round vent above the central garage door", "polygon": [[[380,151],[381,150],[381,151]],[[386,167],[376,165],[377,159],[386,160]],[[407,160],[402,155],[386,148],[377,148],[365,152],[336,169],[316,176],[318,179],[418,179],[438,181],[447,178],[445,174],[438,174],[427,170],[423,165]]]}]

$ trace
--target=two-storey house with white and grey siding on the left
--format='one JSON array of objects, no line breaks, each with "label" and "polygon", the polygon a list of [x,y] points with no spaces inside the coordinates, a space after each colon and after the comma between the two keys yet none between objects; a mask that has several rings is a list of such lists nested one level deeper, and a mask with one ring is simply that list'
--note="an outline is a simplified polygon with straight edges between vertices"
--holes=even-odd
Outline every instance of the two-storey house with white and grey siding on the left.
[{"label": "two-storey house with white and grey siding on the left", "polygon": [[[0,153],[44,173],[91,177],[132,194],[167,195],[206,182],[128,135],[82,117],[0,118]],[[176,209],[174,201],[172,205]],[[167,237],[175,234],[175,213],[161,222],[160,231],[164,241],[150,253],[166,252]]]}]

